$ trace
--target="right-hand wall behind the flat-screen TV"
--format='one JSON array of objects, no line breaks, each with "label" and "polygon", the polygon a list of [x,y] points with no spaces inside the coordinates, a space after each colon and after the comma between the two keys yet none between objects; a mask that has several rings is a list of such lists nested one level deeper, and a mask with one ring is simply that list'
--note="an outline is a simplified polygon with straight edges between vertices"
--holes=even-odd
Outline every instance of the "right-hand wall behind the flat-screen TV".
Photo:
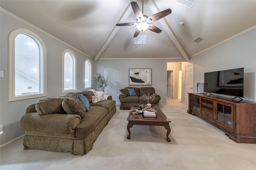
[{"label": "right-hand wall behind the flat-screen TV", "polygon": [[244,67],[244,100],[256,102],[256,29],[192,57],[189,63],[194,63],[194,92],[197,83],[204,82],[204,72]]}]

